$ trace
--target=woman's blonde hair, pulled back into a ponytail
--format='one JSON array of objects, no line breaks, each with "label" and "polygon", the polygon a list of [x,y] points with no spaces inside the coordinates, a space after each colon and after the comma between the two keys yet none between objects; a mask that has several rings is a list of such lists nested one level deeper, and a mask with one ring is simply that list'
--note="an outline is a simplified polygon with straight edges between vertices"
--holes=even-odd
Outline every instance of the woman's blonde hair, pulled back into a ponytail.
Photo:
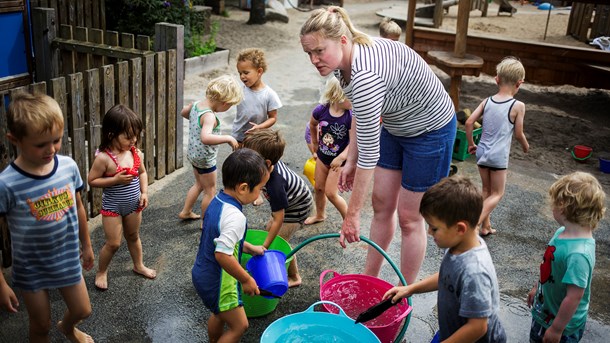
[{"label": "woman's blonde hair, pulled back into a ponytail", "polygon": [[322,38],[334,40],[346,36],[355,44],[366,46],[373,44],[367,34],[354,27],[347,11],[338,6],[329,6],[312,11],[309,19],[301,26],[301,37],[310,33],[318,33]]}]

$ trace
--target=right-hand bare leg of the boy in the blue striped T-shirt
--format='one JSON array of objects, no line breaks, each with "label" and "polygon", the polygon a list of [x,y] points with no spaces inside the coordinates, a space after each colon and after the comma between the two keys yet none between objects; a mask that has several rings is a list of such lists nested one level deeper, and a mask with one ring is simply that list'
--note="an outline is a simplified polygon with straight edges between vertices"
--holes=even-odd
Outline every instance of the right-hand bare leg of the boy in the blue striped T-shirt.
[{"label": "right-hand bare leg of the boy in the blue striped T-shirt", "polygon": [[70,342],[93,342],[93,338],[76,328],[76,325],[91,315],[91,302],[85,281],[74,286],[60,288],[59,292],[64,298],[68,309],[64,318],[57,323],[57,328],[63,333]]}]

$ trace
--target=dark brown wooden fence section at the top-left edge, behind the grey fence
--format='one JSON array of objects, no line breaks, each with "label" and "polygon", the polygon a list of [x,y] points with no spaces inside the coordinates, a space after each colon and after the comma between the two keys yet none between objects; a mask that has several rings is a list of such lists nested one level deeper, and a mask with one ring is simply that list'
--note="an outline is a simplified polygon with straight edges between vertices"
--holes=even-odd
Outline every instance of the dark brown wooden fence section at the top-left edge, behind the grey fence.
[{"label": "dark brown wooden fence section at the top-left edge, behind the grey fence", "polygon": [[105,0],[30,0],[30,7],[54,9],[59,25],[106,28]]}]

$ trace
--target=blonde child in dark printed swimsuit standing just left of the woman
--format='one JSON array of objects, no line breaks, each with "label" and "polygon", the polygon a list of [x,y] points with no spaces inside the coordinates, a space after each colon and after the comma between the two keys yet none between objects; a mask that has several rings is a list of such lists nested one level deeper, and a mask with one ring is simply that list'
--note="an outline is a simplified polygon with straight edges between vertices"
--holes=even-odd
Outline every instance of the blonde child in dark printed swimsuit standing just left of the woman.
[{"label": "blonde child in dark printed swimsuit standing just left of the woman", "polygon": [[311,135],[311,154],[316,159],[315,203],[316,212],[305,219],[305,225],[315,224],[326,219],[326,199],[337,208],[341,218],[347,213],[347,203],[339,195],[338,181],[341,168],[347,159],[349,131],[352,127],[352,104],[339,80],[331,76],[318,105],[311,114],[309,131]]}]

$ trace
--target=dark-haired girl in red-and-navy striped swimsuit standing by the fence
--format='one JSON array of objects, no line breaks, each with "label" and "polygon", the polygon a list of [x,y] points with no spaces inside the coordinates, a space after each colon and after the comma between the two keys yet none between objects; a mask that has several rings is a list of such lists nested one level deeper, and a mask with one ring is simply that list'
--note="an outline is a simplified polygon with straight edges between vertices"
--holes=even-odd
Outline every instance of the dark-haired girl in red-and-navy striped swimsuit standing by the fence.
[{"label": "dark-haired girl in red-and-navy striped swimsuit standing by the fence", "polygon": [[125,105],[115,105],[102,120],[102,142],[89,171],[89,186],[103,188],[102,226],[106,242],[100,251],[95,287],[108,289],[108,265],[121,246],[121,235],[133,261],[133,272],[149,279],[157,272],[144,265],[140,224],[148,207],[148,174],[136,143],[142,120]]}]

